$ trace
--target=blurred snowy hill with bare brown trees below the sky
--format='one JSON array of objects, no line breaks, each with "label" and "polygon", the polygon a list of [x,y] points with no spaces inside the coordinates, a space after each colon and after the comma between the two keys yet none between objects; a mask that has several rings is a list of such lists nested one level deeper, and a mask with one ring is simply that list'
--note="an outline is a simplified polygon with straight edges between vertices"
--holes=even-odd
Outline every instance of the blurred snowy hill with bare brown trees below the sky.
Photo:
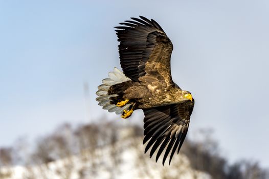
[{"label": "blurred snowy hill with bare brown trees below the sky", "polygon": [[[99,120],[100,121],[100,120]],[[48,136],[40,137],[31,145],[26,139],[18,140],[14,146],[0,148],[0,178],[12,178],[15,172],[12,166],[24,166],[27,170],[23,178],[50,178],[50,164],[60,162],[56,169],[59,178],[74,178],[72,170],[77,168],[77,178],[98,178],[102,168],[107,171],[107,178],[118,178],[124,172],[121,169],[125,150],[135,151],[135,160],[127,159],[137,169],[139,178],[155,178],[152,168],[160,170],[160,178],[180,177],[189,165],[193,170],[192,178],[201,171],[215,179],[266,179],[268,171],[261,168],[256,161],[241,160],[229,163],[220,154],[218,143],[212,140],[209,130],[202,130],[199,135],[203,140],[185,140],[180,155],[174,155],[171,165],[163,167],[155,164],[154,156],[144,154],[143,128],[136,124],[119,125],[115,121],[101,120],[100,123],[81,124],[74,127],[70,124],[59,126]],[[106,158],[103,156],[107,155]],[[187,156],[189,163],[183,160]],[[84,163],[80,164],[79,161]],[[33,169],[33,167],[35,167]],[[40,176],[40,177],[39,177]],[[42,177],[41,177],[42,176]],[[51,177],[53,178],[53,177]]]}]

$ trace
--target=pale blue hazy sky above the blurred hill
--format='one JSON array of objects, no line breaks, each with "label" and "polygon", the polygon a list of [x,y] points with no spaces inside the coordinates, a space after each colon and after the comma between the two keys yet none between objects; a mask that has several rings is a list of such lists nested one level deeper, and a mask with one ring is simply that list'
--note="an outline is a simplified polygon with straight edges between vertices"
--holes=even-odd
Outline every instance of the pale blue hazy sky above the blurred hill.
[{"label": "pale blue hazy sky above the blurred hill", "polygon": [[95,101],[120,68],[113,27],[139,15],[173,42],[173,80],[195,98],[189,137],[210,128],[230,161],[269,167],[266,0],[0,1],[0,146],[63,122],[141,123],[141,111],[122,120]]}]

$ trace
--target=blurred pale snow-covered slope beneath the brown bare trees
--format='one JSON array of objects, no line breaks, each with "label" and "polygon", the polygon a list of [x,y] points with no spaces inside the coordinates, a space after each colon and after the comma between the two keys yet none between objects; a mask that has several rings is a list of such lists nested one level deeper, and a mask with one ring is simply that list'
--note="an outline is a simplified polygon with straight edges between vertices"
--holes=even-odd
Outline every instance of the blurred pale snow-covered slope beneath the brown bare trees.
[{"label": "blurred pale snow-covered slope beneath the brown bare trees", "polygon": [[211,178],[209,174],[192,169],[183,154],[175,154],[170,166],[155,163],[154,155],[150,159],[144,154],[142,138],[131,139],[129,135],[132,135],[131,130],[122,129],[121,138],[114,144],[82,150],[47,164],[2,168],[0,178]]}]

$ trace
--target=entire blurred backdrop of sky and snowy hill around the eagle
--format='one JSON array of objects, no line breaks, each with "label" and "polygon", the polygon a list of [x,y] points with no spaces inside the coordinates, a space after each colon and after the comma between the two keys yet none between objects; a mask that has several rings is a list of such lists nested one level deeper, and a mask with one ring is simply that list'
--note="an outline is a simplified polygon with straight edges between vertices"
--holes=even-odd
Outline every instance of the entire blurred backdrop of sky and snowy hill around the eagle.
[{"label": "entire blurred backdrop of sky and snowy hill around the eagle", "polygon": [[[144,154],[142,111],[95,101],[120,68],[113,27],[139,15],[165,30],[195,98],[170,167]],[[0,1],[0,178],[269,178],[268,17],[265,0]]]}]

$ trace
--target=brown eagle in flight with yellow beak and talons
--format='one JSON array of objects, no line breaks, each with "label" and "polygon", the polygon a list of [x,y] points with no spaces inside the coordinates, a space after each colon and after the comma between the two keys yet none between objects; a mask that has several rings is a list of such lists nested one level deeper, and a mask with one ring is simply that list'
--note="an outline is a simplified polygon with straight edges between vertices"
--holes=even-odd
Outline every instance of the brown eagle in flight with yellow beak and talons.
[{"label": "brown eagle in flight with yellow beak and talons", "polygon": [[[173,44],[153,19],[131,17],[115,27],[120,64],[102,80],[96,100],[103,109],[126,119],[134,110],[144,111],[145,153],[161,153],[163,165],[170,153],[169,165],[186,138],[194,99],[172,80],[170,58]],[[158,149],[159,148],[159,149]]]}]

